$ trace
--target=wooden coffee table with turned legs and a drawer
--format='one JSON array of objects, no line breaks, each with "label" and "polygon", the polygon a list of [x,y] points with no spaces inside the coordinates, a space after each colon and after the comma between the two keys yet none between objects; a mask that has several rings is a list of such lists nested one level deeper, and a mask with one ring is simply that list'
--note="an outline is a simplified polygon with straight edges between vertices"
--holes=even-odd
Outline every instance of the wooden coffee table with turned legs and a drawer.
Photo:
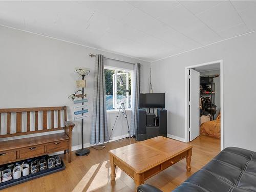
[{"label": "wooden coffee table with turned legs and a drawer", "polygon": [[111,150],[111,180],[118,166],[134,179],[136,187],[145,180],[186,158],[186,169],[191,170],[192,145],[162,136]]}]

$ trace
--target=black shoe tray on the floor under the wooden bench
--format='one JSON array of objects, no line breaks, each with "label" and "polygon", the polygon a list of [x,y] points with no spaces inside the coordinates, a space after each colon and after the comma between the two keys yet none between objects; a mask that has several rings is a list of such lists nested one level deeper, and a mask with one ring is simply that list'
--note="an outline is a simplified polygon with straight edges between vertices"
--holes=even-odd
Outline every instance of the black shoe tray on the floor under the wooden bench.
[{"label": "black shoe tray on the floor under the wooden bench", "polygon": [[[51,157],[49,157],[49,158],[51,158]],[[61,165],[55,166],[54,168],[47,168],[46,170],[40,170],[38,173],[35,173],[35,174],[31,174],[31,170],[30,170],[30,174],[27,176],[20,177],[19,179],[12,178],[10,181],[0,183],[0,190],[10,187],[10,186],[13,186],[13,185],[17,185],[19,183],[24,183],[26,181],[30,181],[32,179],[36,179],[36,178],[43,177],[43,176],[46,176],[49,174],[60,172],[60,170],[64,170],[65,167],[66,166],[61,159]]]}]

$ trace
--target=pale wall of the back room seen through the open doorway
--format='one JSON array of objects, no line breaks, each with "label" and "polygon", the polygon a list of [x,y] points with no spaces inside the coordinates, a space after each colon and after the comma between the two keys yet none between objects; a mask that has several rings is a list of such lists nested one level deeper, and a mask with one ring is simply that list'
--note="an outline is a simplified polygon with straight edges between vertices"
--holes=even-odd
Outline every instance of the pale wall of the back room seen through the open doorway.
[{"label": "pale wall of the back room seen through the open doorway", "polygon": [[[200,72],[200,76],[201,75],[220,75],[220,74],[221,74],[220,70]],[[214,82],[215,82],[215,105],[217,106],[216,115],[215,115],[215,119],[216,119],[217,115],[221,110],[221,94],[220,94],[221,93],[221,77],[215,77]]]}]

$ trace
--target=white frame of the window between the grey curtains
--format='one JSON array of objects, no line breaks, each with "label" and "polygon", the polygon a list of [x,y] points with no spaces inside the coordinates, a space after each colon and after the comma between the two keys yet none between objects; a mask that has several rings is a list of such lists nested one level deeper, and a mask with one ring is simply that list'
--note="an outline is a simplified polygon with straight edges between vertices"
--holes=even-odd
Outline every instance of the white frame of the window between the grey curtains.
[{"label": "white frame of the window between the grey curtains", "polygon": [[[129,69],[124,69],[124,68],[116,68],[116,67],[110,67],[110,66],[104,66],[104,70],[105,69],[108,69],[108,70],[113,70],[113,71],[115,71],[115,73],[113,74],[114,75],[114,77],[113,77],[113,85],[114,85],[114,87],[113,87],[113,110],[106,110],[107,112],[116,112],[116,111],[118,111],[119,110],[119,108],[117,108],[117,104],[116,104],[116,102],[117,102],[117,98],[116,98],[116,95],[117,95],[117,80],[116,80],[116,77],[117,77],[117,75],[118,74],[121,74],[121,73],[117,73],[117,71],[121,71],[121,72],[124,72],[124,73],[127,73],[127,72],[129,72],[129,73],[131,73],[131,108],[128,108],[128,104],[129,104],[129,98],[128,98],[128,95],[129,95],[129,93],[126,93],[126,95],[127,95],[127,97],[126,97],[126,108],[125,108],[125,110],[126,111],[132,111],[132,107],[133,107],[133,70],[129,70]],[[128,79],[129,77],[128,77],[128,75],[126,75],[126,80]],[[129,80],[129,79],[128,79]],[[129,84],[126,84],[126,89],[129,89]]]}]

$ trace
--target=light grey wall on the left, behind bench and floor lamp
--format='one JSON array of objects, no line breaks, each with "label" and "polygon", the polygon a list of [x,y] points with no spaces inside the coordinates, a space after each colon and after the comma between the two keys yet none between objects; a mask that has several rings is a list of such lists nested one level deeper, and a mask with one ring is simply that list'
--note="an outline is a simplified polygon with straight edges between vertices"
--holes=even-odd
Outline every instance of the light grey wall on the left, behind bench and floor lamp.
[{"label": "light grey wall on the left, behind bench and floor lamp", "polygon": [[[86,76],[85,89],[89,99],[89,117],[84,123],[84,143],[89,143],[95,72],[95,57],[89,57],[89,53],[140,62],[142,91],[147,92],[148,62],[0,26],[0,108],[67,105],[68,120],[74,121],[73,104],[68,99],[77,90],[75,80],[80,78],[74,68],[89,68],[91,73]],[[106,60],[105,65],[127,69],[133,67],[110,60]],[[116,113],[108,114],[109,130],[115,117]],[[131,112],[128,112],[128,119],[130,123]],[[75,124],[73,146],[81,144],[80,120]],[[126,134],[124,125],[118,122],[113,136]]]}]

